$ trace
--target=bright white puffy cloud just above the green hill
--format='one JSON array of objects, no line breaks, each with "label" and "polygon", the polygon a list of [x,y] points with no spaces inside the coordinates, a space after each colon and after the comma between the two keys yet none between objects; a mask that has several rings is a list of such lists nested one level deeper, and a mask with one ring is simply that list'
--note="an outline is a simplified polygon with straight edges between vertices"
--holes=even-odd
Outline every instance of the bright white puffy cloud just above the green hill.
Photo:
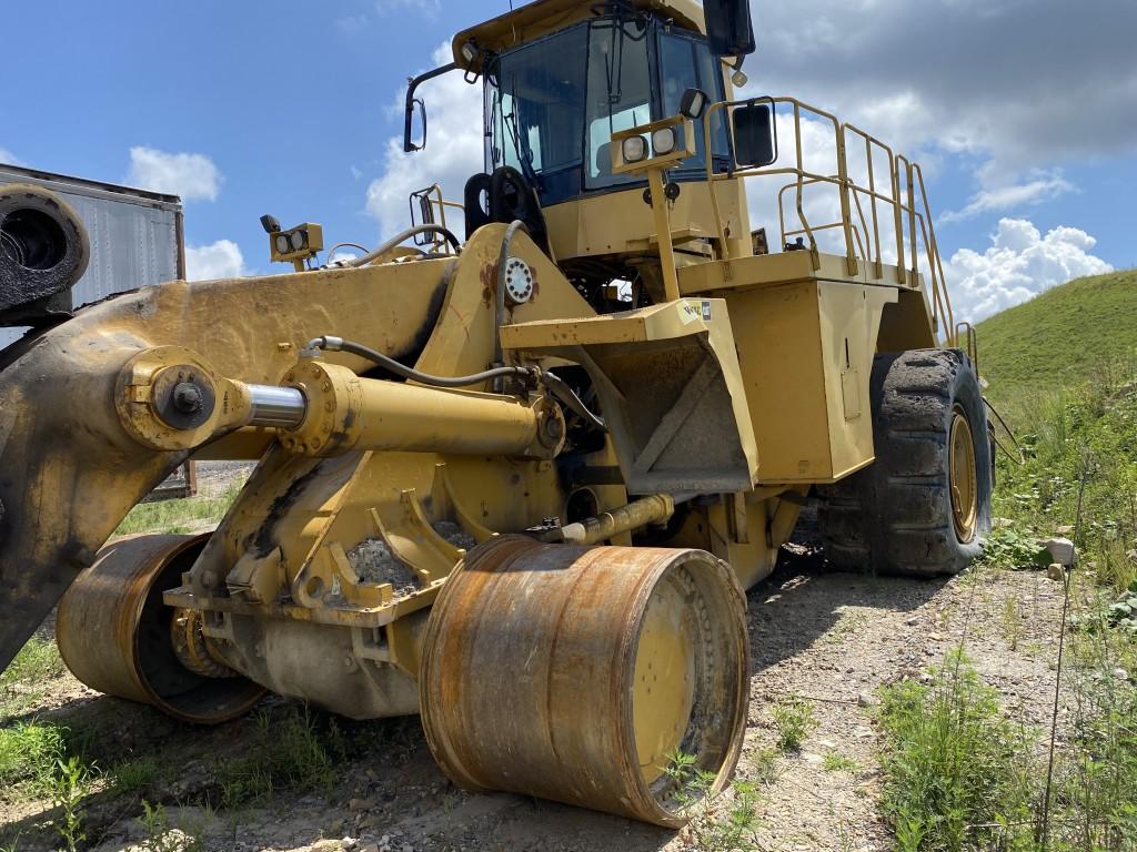
[{"label": "bright white puffy cloud just above the green hill", "polygon": [[1026,219],[999,219],[989,249],[961,249],[947,264],[956,319],[979,321],[1071,278],[1112,272],[1090,253],[1096,244],[1078,228],[1056,227],[1044,236]]}]

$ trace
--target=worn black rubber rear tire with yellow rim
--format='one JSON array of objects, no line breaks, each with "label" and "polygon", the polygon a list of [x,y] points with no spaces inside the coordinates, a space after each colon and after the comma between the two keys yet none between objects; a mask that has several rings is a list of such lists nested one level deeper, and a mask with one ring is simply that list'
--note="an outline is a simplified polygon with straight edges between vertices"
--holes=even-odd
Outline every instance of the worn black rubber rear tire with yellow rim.
[{"label": "worn black rubber rear tire with yellow rim", "polygon": [[990,531],[991,451],[974,367],[955,349],[878,354],[870,395],[877,460],[827,490],[825,556],[878,574],[957,574]]}]

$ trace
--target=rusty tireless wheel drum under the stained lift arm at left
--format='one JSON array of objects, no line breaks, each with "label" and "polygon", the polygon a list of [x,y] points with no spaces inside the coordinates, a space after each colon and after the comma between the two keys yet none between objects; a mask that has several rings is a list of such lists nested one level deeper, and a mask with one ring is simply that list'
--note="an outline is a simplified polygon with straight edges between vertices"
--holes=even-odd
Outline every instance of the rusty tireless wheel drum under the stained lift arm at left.
[{"label": "rusty tireless wheel drum under the stained lift arm at left", "polygon": [[180,583],[209,535],[140,535],[107,545],[59,602],[56,641],[72,674],[92,690],[153,704],[179,719],[235,718],[264,695],[243,677],[204,677],[179,662],[175,610],[161,593]]}]

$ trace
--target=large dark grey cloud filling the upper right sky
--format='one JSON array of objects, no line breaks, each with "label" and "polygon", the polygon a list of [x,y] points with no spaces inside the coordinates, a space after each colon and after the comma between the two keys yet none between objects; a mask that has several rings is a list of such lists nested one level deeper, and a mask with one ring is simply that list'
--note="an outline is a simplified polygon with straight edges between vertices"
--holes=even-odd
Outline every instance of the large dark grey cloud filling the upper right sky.
[{"label": "large dark grey cloud filling the upper right sky", "polygon": [[1131,0],[752,5],[748,91],[795,94],[911,154],[1019,170],[1137,148]]}]

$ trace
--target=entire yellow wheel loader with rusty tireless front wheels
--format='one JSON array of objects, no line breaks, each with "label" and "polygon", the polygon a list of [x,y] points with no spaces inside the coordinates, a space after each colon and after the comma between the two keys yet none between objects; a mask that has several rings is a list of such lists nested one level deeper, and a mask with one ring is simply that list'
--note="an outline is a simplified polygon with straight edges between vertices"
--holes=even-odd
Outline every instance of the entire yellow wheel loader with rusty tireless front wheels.
[{"label": "entire yellow wheel loader with rusty tireless front wheels", "polygon": [[[408,154],[421,84],[484,99],[460,202],[415,193],[406,232],[323,266],[318,225],[265,217],[293,272],[66,321],[40,308],[81,228],[9,187],[0,319],[36,327],[0,353],[0,665],[58,603],[105,693],[202,724],[265,691],[417,712],[463,787],[682,825],[669,761],[729,783],[745,590],[802,507],[836,565],[919,576],[990,513],[919,166],[737,97],[753,49],[745,0],[522,6],[407,93]],[[108,543],[186,459],[257,463],[211,534]]]}]

